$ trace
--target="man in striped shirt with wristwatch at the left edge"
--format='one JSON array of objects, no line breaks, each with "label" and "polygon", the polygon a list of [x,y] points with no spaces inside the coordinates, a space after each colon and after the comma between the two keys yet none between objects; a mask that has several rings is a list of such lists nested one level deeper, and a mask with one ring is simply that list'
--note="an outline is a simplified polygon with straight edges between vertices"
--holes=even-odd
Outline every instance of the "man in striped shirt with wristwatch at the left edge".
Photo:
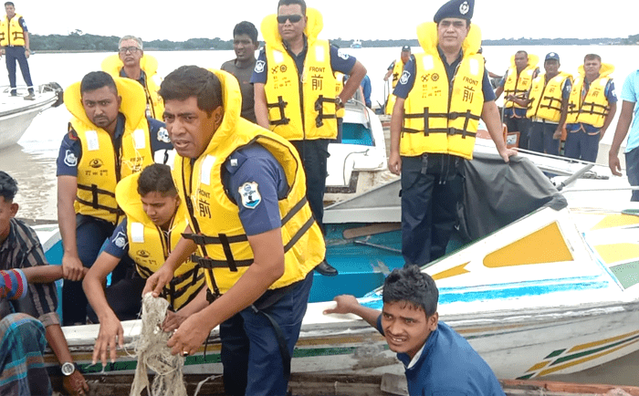
[{"label": "man in striped shirt with wristwatch at the left edge", "polygon": [[[17,193],[17,182],[7,173],[0,171],[0,270],[8,271],[12,269],[24,270],[26,277],[21,281],[21,287],[27,287],[25,280],[28,279],[29,293],[26,297],[13,302],[13,310],[37,318],[45,328],[45,336],[49,347],[58,359],[63,374],[63,386],[65,391],[71,395],[81,395],[89,391],[89,385],[84,380],[82,374],[76,370],[68,350],[67,339],[60,328],[60,318],[56,309],[58,308],[58,293],[56,292],[55,281],[62,274],[59,266],[49,266],[42,245],[37,238],[36,231],[20,220],[16,220],[18,204],[14,202]],[[3,279],[5,276],[0,275]],[[16,281],[20,279],[16,278]],[[3,294],[3,287],[0,287],[0,297]],[[0,308],[0,311],[4,309]],[[3,315],[0,314],[0,317]],[[33,326],[25,326],[27,318],[11,321],[12,331],[34,331]],[[10,333],[11,330],[0,328],[0,332]],[[6,335],[6,334],[5,334]],[[3,336],[5,336],[3,335]],[[32,345],[31,347],[35,347]],[[17,352],[17,359],[13,365],[5,367],[11,372],[10,378],[26,375],[28,361],[34,358],[31,352],[35,350],[12,350],[15,345],[2,344],[2,352],[5,358],[10,358],[11,352]],[[20,356],[22,355],[22,356]],[[2,360],[5,363],[5,360]],[[45,372],[46,373],[46,372]],[[24,378],[24,377],[23,377]],[[29,394],[17,393],[6,389],[5,378],[0,374],[0,394]],[[5,393],[6,391],[6,393]],[[39,394],[33,392],[30,394]]]}]

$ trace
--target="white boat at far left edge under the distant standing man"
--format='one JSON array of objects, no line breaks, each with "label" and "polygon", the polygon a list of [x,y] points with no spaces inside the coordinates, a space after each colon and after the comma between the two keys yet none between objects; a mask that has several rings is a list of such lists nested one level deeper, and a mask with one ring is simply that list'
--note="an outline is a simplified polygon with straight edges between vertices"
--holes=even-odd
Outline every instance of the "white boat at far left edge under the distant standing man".
[{"label": "white boat at far left edge under the distant standing man", "polygon": [[26,87],[18,87],[17,96],[9,95],[9,89],[0,87],[0,149],[16,144],[42,111],[62,104],[62,88],[56,82],[36,87],[33,100],[24,99]]}]

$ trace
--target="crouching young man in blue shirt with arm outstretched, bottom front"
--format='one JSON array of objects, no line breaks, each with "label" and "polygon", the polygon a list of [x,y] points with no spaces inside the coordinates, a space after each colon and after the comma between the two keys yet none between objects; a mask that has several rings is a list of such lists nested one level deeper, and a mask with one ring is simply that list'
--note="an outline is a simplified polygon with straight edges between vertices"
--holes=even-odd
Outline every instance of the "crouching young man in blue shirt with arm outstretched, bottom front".
[{"label": "crouching young man in blue shirt with arm outstretched, bottom front", "polygon": [[433,278],[408,266],[384,280],[382,312],[338,296],[337,307],[324,314],[355,314],[377,328],[406,369],[410,395],[504,396],[487,362],[439,320],[438,299]]}]

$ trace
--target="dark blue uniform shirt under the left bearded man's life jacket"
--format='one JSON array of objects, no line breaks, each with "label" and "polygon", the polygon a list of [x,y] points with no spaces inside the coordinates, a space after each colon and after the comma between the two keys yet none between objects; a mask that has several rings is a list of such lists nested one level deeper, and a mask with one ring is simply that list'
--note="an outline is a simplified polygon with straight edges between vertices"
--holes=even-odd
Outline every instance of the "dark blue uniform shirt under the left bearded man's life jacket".
[{"label": "dark blue uniform shirt under the left bearded man's life jacket", "polygon": [[[173,150],[173,144],[169,140],[169,133],[164,128],[164,123],[159,120],[147,118],[149,121],[149,132],[151,134],[151,151],[155,162],[169,163],[172,157],[168,155],[168,151]],[[120,151],[120,142],[124,134],[124,116],[118,116],[118,123],[115,127],[113,136],[114,147],[116,152]],[[74,176],[78,177],[78,164],[82,158],[82,143],[79,141],[78,134],[75,130],[69,131],[62,139],[60,151],[58,152],[58,171],[56,176]]]}]

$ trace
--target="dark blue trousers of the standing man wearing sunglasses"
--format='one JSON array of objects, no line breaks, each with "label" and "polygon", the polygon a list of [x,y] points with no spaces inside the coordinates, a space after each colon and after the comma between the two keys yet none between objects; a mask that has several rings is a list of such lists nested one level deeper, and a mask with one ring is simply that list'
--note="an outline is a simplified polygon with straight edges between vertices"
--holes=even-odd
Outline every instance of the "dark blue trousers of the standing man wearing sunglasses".
[{"label": "dark blue trousers of the standing man wearing sunglasses", "polygon": [[322,232],[324,232],[324,190],[329,172],[326,166],[329,161],[329,140],[291,141],[298,150],[299,158],[306,172],[306,197],[310,211],[315,216]]}]

